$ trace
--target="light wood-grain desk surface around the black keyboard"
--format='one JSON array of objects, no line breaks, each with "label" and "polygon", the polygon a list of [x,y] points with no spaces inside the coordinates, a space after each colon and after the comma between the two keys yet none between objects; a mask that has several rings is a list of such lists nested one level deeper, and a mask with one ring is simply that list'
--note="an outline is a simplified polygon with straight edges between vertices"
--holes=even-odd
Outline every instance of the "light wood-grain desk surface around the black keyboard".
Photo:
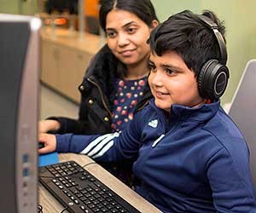
[{"label": "light wood-grain desk surface around the black keyboard", "polygon": [[[59,155],[60,161],[74,160],[81,166],[94,162],[85,155],[65,153]],[[108,173],[98,164],[89,164],[85,167],[91,174],[96,176],[102,183],[106,184],[113,192],[118,193],[123,199],[135,206],[141,212],[160,212],[154,205],[148,203],[140,195],[135,193],[131,188],[126,187],[124,183],[119,181],[116,177]],[[39,185],[39,204],[43,206],[44,213],[60,213],[64,207],[40,184]]]}]

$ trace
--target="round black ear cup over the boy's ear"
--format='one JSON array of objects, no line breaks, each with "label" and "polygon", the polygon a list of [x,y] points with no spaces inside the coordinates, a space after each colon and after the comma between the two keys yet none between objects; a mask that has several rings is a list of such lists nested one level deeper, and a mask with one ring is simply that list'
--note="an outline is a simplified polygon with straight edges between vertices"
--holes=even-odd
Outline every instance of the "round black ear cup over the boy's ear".
[{"label": "round black ear cup over the boy's ear", "polygon": [[224,94],[229,77],[227,66],[221,65],[218,60],[207,60],[197,78],[201,97],[218,100]]}]

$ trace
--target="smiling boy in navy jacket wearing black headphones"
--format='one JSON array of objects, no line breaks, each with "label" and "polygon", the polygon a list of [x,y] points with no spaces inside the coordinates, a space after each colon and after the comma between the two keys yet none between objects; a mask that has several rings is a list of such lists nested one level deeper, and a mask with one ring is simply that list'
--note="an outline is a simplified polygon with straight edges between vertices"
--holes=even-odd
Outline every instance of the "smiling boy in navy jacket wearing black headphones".
[{"label": "smiling boy in navy jacket wearing black headphones", "polygon": [[256,212],[246,142],[220,107],[229,78],[212,12],[172,15],[149,38],[154,99],[122,133],[40,135],[39,153],[135,158],[137,193],[163,212]]}]

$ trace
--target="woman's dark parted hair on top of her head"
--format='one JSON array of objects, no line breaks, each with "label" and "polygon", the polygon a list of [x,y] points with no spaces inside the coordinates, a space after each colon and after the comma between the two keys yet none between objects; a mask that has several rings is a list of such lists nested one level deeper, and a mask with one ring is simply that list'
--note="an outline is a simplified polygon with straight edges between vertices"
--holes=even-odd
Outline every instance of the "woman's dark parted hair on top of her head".
[{"label": "woman's dark parted hair on top of her head", "polygon": [[136,14],[149,27],[151,27],[152,20],[158,20],[150,0],[101,0],[100,3],[100,25],[104,31],[106,30],[107,15],[113,9],[122,9]]}]

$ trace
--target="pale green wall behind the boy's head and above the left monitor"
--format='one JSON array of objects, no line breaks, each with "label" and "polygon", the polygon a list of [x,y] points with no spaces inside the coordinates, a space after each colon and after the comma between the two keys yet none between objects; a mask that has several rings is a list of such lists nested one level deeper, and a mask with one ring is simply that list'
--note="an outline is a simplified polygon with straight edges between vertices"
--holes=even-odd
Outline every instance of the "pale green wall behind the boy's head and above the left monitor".
[{"label": "pale green wall behind the boy's head and above the left monitor", "polygon": [[[43,0],[0,0],[0,13],[35,14]],[[86,0],[84,0],[86,2]],[[230,82],[223,103],[230,102],[247,60],[256,58],[256,1],[255,0],[152,0],[160,20],[171,14],[190,9],[201,13],[211,9],[226,26]]]}]

